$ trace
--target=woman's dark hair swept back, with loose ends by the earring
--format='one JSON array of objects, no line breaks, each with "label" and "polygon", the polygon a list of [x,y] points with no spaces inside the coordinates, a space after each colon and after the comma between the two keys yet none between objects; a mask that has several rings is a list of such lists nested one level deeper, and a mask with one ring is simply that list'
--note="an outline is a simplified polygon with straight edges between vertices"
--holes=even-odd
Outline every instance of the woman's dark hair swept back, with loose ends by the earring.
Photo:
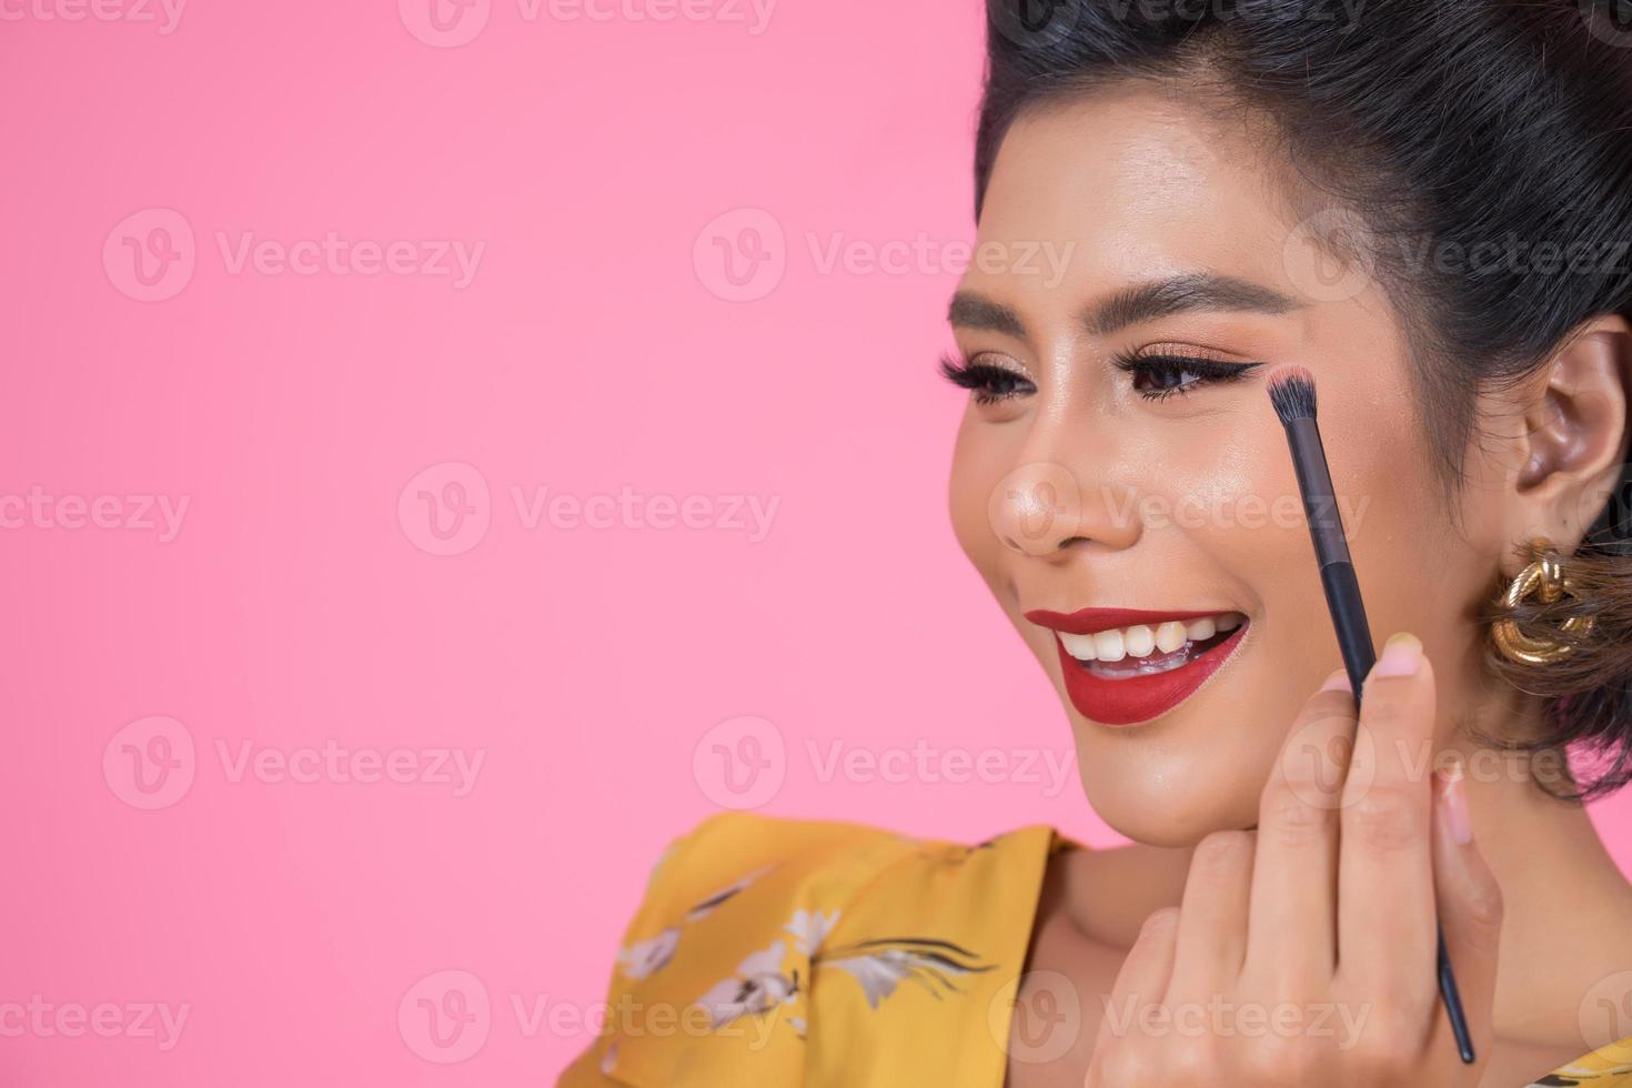
[{"label": "woman's dark hair swept back, with loose ends by the earring", "polygon": [[[1454,491],[1479,424],[1475,391],[1532,375],[1593,316],[1632,320],[1622,11],[1632,3],[989,0],[976,217],[1005,132],[1035,106],[1151,80],[1268,119],[1291,176],[1364,227],[1364,259],[1408,333],[1430,447]],[[1421,259],[1423,243],[1436,259]],[[1492,250],[1498,259],[1474,259]],[[1581,599],[1501,613],[1549,638],[1559,618],[1593,615],[1570,657],[1536,667],[1487,654],[1544,703],[1542,736],[1513,747],[1591,757],[1591,775],[1542,783],[1557,796],[1632,780],[1629,509],[1622,465],[1603,511],[1583,511],[1596,520],[1567,559]]]}]

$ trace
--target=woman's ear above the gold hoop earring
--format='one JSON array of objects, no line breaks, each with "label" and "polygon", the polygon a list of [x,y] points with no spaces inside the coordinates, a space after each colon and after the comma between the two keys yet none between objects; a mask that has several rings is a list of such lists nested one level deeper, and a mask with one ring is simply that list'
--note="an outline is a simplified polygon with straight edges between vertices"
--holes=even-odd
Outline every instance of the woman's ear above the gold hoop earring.
[{"label": "woman's ear above the gold hoop earring", "polygon": [[[1521,401],[1519,471],[1508,540],[1547,537],[1568,555],[1586,537],[1619,486],[1627,460],[1627,383],[1632,326],[1603,315],[1565,339]],[[1503,556],[1513,576],[1521,559]]]}]

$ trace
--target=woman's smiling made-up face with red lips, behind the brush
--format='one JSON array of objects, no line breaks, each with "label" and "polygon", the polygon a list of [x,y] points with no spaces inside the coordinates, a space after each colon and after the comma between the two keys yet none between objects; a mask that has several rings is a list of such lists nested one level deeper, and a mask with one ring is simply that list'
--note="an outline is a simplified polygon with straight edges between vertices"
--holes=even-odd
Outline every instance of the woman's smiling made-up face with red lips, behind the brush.
[{"label": "woman's smiling made-up face with red lips, behind the brush", "polygon": [[1155,90],[1023,116],[951,307],[989,378],[958,434],[958,540],[1054,682],[1089,799],[1159,845],[1253,824],[1342,666],[1276,364],[1314,375],[1373,635],[1423,639],[1443,706],[1475,695],[1472,612],[1508,546],[1488,465],[1452,529],[1395,313],[1309,241],[1338,219],[1299,228],[1262,147]]}]

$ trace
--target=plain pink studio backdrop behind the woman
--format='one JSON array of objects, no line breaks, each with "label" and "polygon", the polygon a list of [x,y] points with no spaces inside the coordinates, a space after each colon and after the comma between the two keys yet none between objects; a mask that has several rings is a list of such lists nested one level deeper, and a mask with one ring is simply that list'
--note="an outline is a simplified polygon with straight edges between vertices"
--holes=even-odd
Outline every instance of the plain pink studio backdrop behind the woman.
[{"label": "plain pink studio backdrop behind the woman", "polygon": [[945,515],[979,5],[429,2],[3,10],[8,1086],[547,1083],[720,804],[1115,840]]}]

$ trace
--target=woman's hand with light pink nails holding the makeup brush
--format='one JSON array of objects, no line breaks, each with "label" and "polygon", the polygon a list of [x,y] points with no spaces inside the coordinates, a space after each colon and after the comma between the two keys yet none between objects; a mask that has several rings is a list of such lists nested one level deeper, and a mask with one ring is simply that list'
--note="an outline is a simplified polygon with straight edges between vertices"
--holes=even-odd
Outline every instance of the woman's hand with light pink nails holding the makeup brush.
[{"label": "woman's hand with light pink nails holding the makeup brush", "polygon": [[[1421,643],[1389,639],[1355,724],[1333,674],[1291,731],[1257,830],[1196,847],[1182,905],[1152,913],[1123,962],[1087,1088],[1479,1083],[1501,894],[1459,772],[1423,773]],[[1436,905],[1479,1065],[1462,1065],[1439,1002]]]}]

